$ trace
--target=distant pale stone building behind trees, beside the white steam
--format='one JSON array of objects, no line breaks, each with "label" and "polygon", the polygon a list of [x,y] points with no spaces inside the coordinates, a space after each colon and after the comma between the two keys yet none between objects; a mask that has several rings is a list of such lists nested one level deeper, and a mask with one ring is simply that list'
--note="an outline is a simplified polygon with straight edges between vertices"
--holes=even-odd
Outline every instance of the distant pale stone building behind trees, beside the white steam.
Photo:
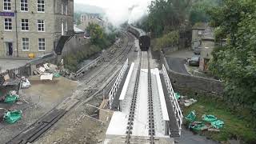
[{"label": "distant pale stone building behind trees, beside the white steam", "polygon": [[82,14],[80,20],[81,24],[79,25],[79,28],[82,30],[86,30],[90,23],[98,24],[102,27],[104,24],[100,14]]}]

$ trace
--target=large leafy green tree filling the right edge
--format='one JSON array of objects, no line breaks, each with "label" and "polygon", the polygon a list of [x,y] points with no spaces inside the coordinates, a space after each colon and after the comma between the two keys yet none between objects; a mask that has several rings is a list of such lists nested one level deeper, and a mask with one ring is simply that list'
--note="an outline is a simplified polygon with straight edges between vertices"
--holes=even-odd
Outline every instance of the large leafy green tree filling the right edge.
[{"label": "large leafy green tree filling the right edge", "polygon": [[225,0],[211,10],[217,38],[226,46],[214,50],[210,70],[225,82],[226,100],[256,114],[256,2]]}]

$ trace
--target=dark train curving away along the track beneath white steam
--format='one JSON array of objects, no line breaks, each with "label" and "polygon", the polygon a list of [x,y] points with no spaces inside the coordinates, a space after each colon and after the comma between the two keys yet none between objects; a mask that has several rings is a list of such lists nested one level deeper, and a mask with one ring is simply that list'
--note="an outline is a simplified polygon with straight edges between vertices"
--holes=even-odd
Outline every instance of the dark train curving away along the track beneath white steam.
[{"label": "dark train curving away along the track beneath white steam", "polygon": [[144,30],[138,29],[134,26],[128,26],[128,31],[134,34],[138,38],[139,47],[142,51],[147,51],[150,48],[150,37],[146,34]]}]

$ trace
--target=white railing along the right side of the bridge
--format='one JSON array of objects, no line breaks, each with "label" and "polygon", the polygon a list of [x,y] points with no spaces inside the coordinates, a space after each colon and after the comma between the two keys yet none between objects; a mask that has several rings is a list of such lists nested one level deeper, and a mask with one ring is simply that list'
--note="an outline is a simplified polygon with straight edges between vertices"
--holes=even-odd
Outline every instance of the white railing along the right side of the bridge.
[{"label": "white railing along the right side of the bridge", "polygon": [[181,110],[181,108],[178,105],[178,100],[175,97],[173,86],[170,83],[170,78],[169,78],[169,76],[167,74],[166,67],[164,65],[162,65],[162,74],[163,74],[163,76],[165,78],[167,91],[168,91],[168,94],[170,95],[170,101],[171,101],[171,104],[172,104],[172,106],[174,108],[174,114],[175,114],[177,122],[178,122],[179,135],[181,135],[181,131],[182,131],[182,118],[183,118],[182,110]]}]

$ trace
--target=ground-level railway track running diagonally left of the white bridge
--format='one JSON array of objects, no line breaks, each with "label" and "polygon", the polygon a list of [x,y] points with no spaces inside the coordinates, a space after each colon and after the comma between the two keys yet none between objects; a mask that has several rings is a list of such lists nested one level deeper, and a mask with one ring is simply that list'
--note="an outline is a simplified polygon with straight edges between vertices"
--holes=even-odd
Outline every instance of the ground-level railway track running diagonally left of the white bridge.
[{"label": "ground-level railway track running diagonally left of the white bridge", "polygon": [[[102,82],[106,80],[106,78],[110,78],[111,70],[113,70],[118,63],[122,62],[124,58],[126,58],[126,55],[129,54],[130,50],[133,48],[132,45],[129,45],[132,37],[127,34],[128,36],[128,42],[126,46],[123,47],[120,53],[118,53],[117,56],[115,56],[113,59],[110,60],[110,62],[102,68],[97,74],[95,74],[93,77],[89,79],[89,81],[85,82],[85,85],[90,82],[99,82],[98,76],[101,74],[105,75],[105,78],[102,78],[101,84],[98,84],[96,87],[103,86]],[[110,66],[112,66],[110,68]],[[106,70],[108,70],[106,74]],[[110,70],[110,71],[109,71]],[[90,93],[86,95],[91,95],[90,98],[93,98],[96,95],[97,92],[91,91]],[[62,118],[65,114],[70,112],[71,109],[74,108],[74,106],[78,104],[85,103],[85,101],[88,98],[67,98],[64,100],[60,105],[54,107],[53,110],[51,110],[49,113],[42,116],[42,118],[39,118],[37,122],[34,122],[34,124],[26,127],[22,130],[22,132],[18,135],[16,135],[14,138],[12,138],[7,144],[25,144],[25,143],[32,143],[35,142],[42,134],[45,134],[47,130],[49,130],[60,118]],[[62,107],[62,108],[59,108]]]}]

